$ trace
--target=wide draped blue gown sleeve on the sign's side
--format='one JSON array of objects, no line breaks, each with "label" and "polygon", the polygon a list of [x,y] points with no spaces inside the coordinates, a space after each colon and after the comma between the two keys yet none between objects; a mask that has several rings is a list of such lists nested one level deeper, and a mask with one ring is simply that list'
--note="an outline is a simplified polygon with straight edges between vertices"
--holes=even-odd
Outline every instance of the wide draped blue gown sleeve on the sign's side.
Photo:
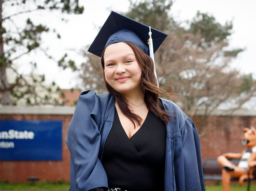
[{"label": "wide draped blue gown sleeve on the sign's side", "polygon": [[101,134],[100,98],[93,91],[82,92],[67,130],[70,150],[70,190],[88,191],[107,186],[107,175],[98,158]]}]

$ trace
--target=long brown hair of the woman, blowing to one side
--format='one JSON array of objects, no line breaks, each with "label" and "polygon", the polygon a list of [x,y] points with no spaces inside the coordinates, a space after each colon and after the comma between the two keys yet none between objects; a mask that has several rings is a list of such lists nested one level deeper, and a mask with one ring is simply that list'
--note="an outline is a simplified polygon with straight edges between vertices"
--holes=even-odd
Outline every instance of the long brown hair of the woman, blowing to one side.
[{"label": "long brown hair of the woman, blowing to one side", "polygon": [[[168,123],[168,119],[172,117],[171,115],[168,115],[166,111],[161,110],[159,106],[159,94],[163,94],[166,96],[171,97],[172,92],[166,93],[162,88],[157,87],[157,81],[156,77],[154,75],[154,63],[153,60],[145,54],[138,46],[131,42],[125,42],[131,48],[133,49],[133,52],[135,54],[135,57],[137,59],[137,62],[141,68],[141,81],[140,85],[142,90],[144,91],[144,101],[146,103],[146,106],[149,111],[154,113],[156,117],[164,121],[166,124]],[[133,113],[128,105],[128,100],[119,92],[117,92],[115,89],[113,89],[106,81],[105,77],[105,63],[104,63],[104,53],[105,50],[103,50],[102,56],[101,56],[101,64],[102,64],[102,69],[103,69],[103,77],[104,77],[104,82],[106,85],[106,88],[108,92],[115,97],[117,104],[120,108],[120,110],[123,112],[125,116],[127,116],[132,122],[135,127],[135,122],[137,125],[141,125],[142,119],[140,116],[136,115]]]}]

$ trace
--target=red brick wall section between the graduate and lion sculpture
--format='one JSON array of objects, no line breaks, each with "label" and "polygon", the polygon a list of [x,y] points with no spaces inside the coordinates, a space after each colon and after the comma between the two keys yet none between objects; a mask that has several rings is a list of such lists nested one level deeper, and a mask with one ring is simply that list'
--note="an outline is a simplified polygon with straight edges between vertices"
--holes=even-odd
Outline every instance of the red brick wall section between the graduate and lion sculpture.
[{"label": "red brick wall section between the graduate and lion sculpture", "polygon": [[[199,117],[194,120],[199,124]],[[210,134],[200,137],[202,161],[216,158],[226,153],[240,153],[245,147],[241,144],[243,128],[256,128],[256,116],[211,116],[205,127],[216,127]]]}]

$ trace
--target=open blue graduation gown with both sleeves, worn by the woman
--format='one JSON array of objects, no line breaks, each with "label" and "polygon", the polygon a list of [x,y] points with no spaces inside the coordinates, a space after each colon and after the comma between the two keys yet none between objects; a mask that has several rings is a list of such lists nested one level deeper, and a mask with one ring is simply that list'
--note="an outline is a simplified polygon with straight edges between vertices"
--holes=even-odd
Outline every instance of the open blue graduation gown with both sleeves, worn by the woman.
[{"label": "open blue graduation gown with both sleeves, worn by the woman", "polygon": [[[174,102],[162,102],[165,111],[175,115],[166,125],[165,191],[205,190],[196,127]],[[71,191],[108,187],[101,158],[114,121],[114,108],[115,98],[109,93],[80,94],[66,137]]]}]

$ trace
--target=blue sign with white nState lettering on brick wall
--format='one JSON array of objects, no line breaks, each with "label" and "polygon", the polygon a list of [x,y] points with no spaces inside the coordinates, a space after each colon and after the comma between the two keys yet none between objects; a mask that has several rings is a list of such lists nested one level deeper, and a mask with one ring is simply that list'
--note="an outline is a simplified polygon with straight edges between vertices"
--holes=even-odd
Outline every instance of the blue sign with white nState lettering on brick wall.
[{"label": "blue sign with white nState lettering on brick wall", "polygon": [[61,160],[62,121],[0,120],[0,160]]}]

